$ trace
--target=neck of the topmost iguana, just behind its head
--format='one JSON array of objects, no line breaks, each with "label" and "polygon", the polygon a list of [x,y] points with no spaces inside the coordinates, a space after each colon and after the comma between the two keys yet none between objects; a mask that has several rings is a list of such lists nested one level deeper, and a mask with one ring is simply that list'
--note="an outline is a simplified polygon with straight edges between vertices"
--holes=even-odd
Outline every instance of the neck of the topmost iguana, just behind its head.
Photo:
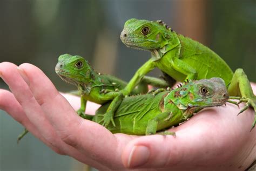
[{"label": "neck of the topmost iguana, just behind its head", "polygon": [[181,47],[180,40],[176,32],[172,32],[168,39],[162,42],[163,45],[159,49],[152,49],[151,58],[153,61],[161,59],[167,52],[176,47]]}]

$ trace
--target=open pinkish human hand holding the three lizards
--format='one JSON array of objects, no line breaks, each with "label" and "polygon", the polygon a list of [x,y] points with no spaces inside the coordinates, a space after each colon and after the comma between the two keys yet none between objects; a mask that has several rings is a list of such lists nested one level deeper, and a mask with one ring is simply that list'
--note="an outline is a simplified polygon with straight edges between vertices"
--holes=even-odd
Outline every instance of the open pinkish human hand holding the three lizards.
[{"label": "open pinkish human hand holding the three lizards", "polygon": [[205,109],[170,129],[176,138],[112,134],[80,118],[79,99],[60,94],[36,66],[4,62],[0,76],[11,90],[0,90],[2,110],[56,153],[100,170],[245,170],[256,158],[251,108],[238,116],[233,104]]}]

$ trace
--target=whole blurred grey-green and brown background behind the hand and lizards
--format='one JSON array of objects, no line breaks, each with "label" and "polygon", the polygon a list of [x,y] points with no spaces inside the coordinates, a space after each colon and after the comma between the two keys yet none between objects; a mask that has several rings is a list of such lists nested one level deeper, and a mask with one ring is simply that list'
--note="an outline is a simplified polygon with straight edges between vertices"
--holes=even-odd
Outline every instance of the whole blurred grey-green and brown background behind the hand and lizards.
[{"label": "whole blurred grey-green and brown background behind the hand and lizards", "polygon": [[[119,35],[127,19],[161,19],[176,32],[218,53],[231,69],[245,70],[256,81],[255,1],[0,1],[0,62],[31,63],[42,69],[59,91],[75,89],[55,73],[58,56],[78,54],[100,73],[126,81],[151,57],[127,48]],[[151,76],[158,77],[155,69]],[[0,80],[0,88],[8,86]],[[84,170],[57,155],[32,135],[17,145],[23,127],[0,111],[0,170]]]}]

